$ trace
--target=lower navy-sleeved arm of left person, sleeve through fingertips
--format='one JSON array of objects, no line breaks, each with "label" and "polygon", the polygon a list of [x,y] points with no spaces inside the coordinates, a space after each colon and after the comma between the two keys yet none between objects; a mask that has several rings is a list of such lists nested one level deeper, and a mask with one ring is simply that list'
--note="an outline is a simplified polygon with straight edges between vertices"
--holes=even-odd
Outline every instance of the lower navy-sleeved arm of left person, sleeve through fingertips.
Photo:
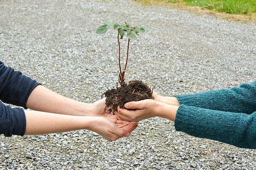
[{"label": "lower navy-sleeved arm of left person, sleeve through fingertips", "polygon": [[60,133],[70,130],[92,130],[109,141],[122,136],[137,127],[137,123],[117,119],[106,119],[99,116],[70,116],[40,111],[24,111],[21,108],[11,108],[0,102],[0,134],[33,135]]}]

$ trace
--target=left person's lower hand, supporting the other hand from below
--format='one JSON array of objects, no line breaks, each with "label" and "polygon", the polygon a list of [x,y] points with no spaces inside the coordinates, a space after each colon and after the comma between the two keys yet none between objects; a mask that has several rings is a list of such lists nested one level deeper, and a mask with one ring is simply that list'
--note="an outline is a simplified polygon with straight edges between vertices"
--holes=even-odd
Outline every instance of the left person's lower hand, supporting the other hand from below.
[{"label": "left person's lower hand, supporting the other hand from below", "polygon": [[116,120],[116,122],[113,123],[109,119],[96,116],[87,117],[87,119],[91,120],[87,129],[98,133],[108,141],[115,141],[121,137],[130,136],[129,130],[131,129],[128,126],[128,122]]}]

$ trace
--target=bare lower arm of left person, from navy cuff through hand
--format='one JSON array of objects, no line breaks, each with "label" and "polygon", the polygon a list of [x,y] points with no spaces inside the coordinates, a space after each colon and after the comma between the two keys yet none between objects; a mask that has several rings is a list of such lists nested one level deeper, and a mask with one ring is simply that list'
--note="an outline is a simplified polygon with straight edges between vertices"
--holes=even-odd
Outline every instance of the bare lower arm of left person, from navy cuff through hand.
[{"label": "bare lower arm of left person, from navy cuff through hand", "polygon": [[79,129],[92,130],[108,141],[130,135],[125,121],[117,120],[113,123],[106,118],[97,116],[70,116],[40,111],[25,111],[25,114],[25,135],[60,133]]}]

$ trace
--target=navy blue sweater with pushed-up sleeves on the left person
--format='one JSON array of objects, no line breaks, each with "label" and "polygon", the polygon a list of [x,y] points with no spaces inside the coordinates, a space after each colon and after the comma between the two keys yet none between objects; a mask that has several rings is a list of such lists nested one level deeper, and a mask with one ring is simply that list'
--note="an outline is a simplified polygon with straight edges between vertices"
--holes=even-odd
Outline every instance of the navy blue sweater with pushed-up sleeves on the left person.
[{"label": "navy blue sweater with pushed-up sleeves on the left person", "polygon": [[[35,80],[22,75],[20,71],[7,67],[0,61],[0,100],[12,105],[26,107],[26,102],[40,85]],[[11,108],[0,102],[0,134],[23,136],[26,130],[26,116],[21,108]]]}]

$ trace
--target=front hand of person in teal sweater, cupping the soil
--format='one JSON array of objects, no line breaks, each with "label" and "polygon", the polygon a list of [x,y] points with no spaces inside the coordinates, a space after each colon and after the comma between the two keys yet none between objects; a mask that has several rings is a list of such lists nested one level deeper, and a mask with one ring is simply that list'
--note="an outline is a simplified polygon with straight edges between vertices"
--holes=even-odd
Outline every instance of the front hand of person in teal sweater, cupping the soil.
[{"label": "front hand of person in teal sweater, cupping the soil", "polygon": [[158,103],[159,102],[152,99],[145,99],[138,102],[128,102],[125,103],[125,108],[136,110],[127,110],[118,107],[115,114],[119,119],[139,122],[143,119],[158,116]]}]

